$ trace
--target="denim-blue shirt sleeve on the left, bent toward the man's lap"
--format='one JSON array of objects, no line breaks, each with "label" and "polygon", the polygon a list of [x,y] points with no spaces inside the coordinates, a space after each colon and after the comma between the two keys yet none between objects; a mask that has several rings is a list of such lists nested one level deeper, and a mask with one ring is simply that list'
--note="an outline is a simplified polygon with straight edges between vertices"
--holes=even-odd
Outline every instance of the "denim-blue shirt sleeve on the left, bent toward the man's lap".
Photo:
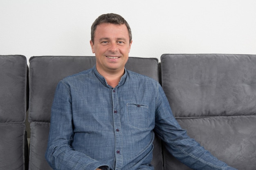
[{"label": "denim-blue shirt sleeve on the left, bent toward the man's lap", "polygon": [[[72,99],[70,88],[58,83],[52,105],[51,125],[45,158],[54,170],[96,170],[105,166],[72,148]],[[109,169],[109,168],[107,168]]]}]

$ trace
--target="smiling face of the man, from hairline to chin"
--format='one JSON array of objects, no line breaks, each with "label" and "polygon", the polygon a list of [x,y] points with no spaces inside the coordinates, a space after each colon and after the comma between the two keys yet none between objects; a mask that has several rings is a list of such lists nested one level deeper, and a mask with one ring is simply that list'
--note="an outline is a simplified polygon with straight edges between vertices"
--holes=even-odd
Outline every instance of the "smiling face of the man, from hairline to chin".
[{"label": "smiling face of the man, from hairline to chin", "polygon": [[132,44],[125,24],[99,24],[95,30],[94,43],[91,40],[90,44],[99,73],[124,72]]}]

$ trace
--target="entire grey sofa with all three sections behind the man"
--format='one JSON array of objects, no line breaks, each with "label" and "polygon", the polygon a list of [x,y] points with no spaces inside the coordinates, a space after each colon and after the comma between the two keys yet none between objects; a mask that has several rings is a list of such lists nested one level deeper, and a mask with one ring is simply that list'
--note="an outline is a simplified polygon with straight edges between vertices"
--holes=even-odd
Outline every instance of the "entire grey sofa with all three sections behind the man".
[{"label": "entire grey sofa with all three sections behind the man", "polygon": [[[22,58],[22,66],[13,66],[17,58]],[[95,57],[36,56],[29,62],[28,104],[25,57],[0,56],[0,135],[4,136],[4,141],[0,139],[1,170],[27,170],[28,162],[29,170],[52,170],[44,155],[55,87],[64,77],[91,68]],[[19,67],[22,69],[18,70]],[[159,81],[173,114],[190,137],[230,166],[255,170],[256,55],[164,54],[160,61],[130,57],[126,68]],[[16,72],[12,73],[13,70]],[[14,75],[12,79],[9,72]],[[4,81],[3,85],[2,79],[10,81]],[[13,106],[17,108],[12,111]],[[25,132],[27,106],[29,161]],[[2,111],[2,108],[7,109]],[[19,137],[15,137],[17,133]],[[155,137],[152,160],[155,170],[191,170],[173,158],[164,145]],[[2,150],[13,159],[5,157]],[[19,166],[14,166],[13,161],[19,162]]]}]

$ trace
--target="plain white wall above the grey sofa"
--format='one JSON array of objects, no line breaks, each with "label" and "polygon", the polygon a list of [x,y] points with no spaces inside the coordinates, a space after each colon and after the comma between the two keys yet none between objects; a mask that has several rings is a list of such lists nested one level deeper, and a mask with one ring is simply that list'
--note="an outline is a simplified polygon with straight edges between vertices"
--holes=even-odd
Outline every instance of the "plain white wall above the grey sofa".
[{"label": "plain white wall above the grey sofa", "polygon": [[0,55],[94,55],[103,13],[130,24],[130,56],[256,54],[256,0],[0,0]]}]

